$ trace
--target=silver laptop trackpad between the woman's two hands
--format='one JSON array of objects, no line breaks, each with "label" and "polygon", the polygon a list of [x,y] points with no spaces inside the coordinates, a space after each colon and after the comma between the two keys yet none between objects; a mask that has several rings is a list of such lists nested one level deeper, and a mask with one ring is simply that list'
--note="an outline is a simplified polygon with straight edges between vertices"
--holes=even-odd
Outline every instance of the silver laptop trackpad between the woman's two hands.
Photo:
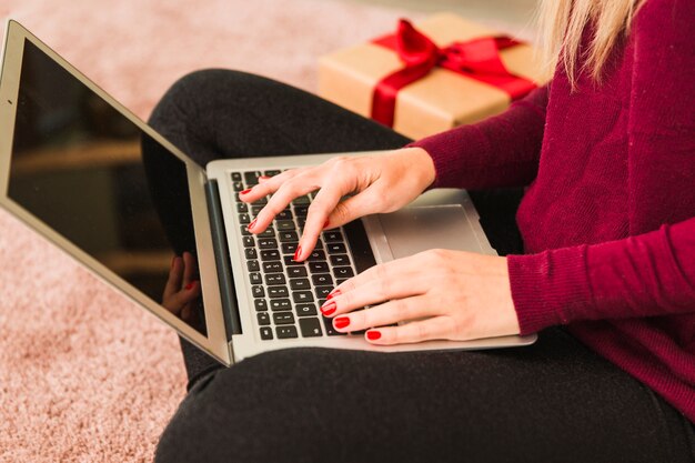
[{"label": "silver laptop trackpad between the woman's two hands", "polygon": [[405,208],[379,221],[394,259],[427,249],[484,252],[461,204]]}]

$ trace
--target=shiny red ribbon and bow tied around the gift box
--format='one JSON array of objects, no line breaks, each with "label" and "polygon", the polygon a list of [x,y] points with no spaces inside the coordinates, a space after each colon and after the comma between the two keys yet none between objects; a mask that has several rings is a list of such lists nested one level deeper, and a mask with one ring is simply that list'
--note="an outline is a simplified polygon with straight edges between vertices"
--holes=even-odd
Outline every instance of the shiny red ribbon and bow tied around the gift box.
[{"label": "shiny red ribbon and bow tied around the gift box", "polygon": [[374,88],[372,119],[384,125],[393,127],[399,91],[424,78],[437,66],[494,85],[508,93],[512,100],[536,88],[534,82],[511,73],[502,62],[500,50],[521,43],[508,37],[454,42],[442,49],[410,21],[402,19],[395,34],[382,37],[373,43],[394,50],[405,64],[403,69],[383,78]]}]

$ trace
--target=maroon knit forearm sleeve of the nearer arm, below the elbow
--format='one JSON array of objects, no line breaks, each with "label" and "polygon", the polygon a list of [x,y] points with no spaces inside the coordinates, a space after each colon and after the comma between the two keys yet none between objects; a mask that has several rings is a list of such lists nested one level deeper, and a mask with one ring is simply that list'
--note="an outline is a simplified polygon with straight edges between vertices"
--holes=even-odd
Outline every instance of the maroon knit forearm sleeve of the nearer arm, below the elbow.
[{"label": "maroon knit forearm sleeve of the nearer arm, below the elbow", "polygon": [[507,256],[522,334],[578,320],[695,313],[695,218],[593,245]]}]

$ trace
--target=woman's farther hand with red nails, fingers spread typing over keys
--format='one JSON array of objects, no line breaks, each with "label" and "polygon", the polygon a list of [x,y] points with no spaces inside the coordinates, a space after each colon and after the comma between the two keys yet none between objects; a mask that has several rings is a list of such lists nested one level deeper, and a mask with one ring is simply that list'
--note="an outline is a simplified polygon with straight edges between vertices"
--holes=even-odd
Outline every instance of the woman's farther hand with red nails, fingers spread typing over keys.
[{"label": "woman's farther hand with red nails, fingers spread typing over keys", "polygon": [[[435,178],[434,163],[422,148],[404,148],[377,155],[336,157],[323,164],[292,169],[240,193],[244,202],[272,198],[249,224],[260,233],[292,200],[319,190],[312,201],[294,260],[306,259],[319,234],[362,215],[393,212],[413,201]],[[350,195],[349,198],[345,198]]]}]

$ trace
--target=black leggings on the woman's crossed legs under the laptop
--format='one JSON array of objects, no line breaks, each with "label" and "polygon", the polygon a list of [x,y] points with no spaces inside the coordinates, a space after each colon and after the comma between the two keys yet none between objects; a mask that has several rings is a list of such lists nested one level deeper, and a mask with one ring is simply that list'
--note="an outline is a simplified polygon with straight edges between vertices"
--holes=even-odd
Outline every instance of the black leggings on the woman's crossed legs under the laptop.
[{"label": "black leggings on the woman's crossed legs under the laptop", "polygon": [[[301,90],[222,70],[179,81],[151,123],[201,164],[409,141]],[[521,192],[473,197],[493,245],[517,251]],[[191,387],[158,462],[694,461],[681,413],[561,329],[522,349],[289,349],[230,369],[182,345]]]}]

